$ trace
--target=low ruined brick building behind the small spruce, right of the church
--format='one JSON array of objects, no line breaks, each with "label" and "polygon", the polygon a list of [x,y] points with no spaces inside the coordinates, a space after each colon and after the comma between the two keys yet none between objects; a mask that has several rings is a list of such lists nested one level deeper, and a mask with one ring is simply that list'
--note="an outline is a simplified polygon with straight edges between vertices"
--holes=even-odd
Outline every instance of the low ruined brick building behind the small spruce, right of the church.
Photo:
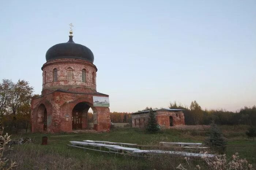
[{"label": "low ruined brick building behind the small spruce, right of the church", "polygon": [[[162,127],[170,128],[176,125],[184,125],[185,119],[181,109],[156,109],[155,118],[157,123]],[[132,127],[146,127],[150,117],[150,111],[132,113]]]}]

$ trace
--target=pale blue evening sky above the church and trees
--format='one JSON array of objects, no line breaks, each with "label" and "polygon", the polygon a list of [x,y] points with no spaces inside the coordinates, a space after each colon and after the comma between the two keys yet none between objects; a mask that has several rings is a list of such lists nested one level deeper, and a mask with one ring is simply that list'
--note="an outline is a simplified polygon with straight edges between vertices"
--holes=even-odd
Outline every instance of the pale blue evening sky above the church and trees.
[{"label": "pale blue evening sky above the church and trees", "polygon": [[45,53],[68,41],[72,22],[111,112],[192,100],[236,111],[256,104],[255,9],[255,0],[1,1],[0,80],[40,94]]}]

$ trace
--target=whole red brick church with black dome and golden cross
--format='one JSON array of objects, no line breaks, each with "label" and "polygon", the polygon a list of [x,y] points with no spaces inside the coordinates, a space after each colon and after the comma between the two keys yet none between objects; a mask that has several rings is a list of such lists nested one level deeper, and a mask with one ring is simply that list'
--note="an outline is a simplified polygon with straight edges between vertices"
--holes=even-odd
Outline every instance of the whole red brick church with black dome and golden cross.
[{"label": "whole red brick church with black dome and golden cross", "polygon": [[93,129],[109,131],[109,95],[96,90],[94,55],[89,48],[73,41],[72,29],[69,33],[68,42],[54,45],[46,52],[42,93],[31,101],[31,131],[88,129],[89,108],[93,110]]}]

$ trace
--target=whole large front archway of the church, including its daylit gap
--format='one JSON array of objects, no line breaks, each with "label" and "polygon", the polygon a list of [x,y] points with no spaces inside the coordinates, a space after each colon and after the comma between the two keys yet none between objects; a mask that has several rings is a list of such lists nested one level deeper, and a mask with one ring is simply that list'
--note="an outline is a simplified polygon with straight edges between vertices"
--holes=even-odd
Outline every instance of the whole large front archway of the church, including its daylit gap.
[{"label": "whole large front archway of the church, including its daylit gap", "polygon": [[94,124],[97,124],[96,110],[86,102],[76,104],[72,110],[72,129],[93,129]]}]

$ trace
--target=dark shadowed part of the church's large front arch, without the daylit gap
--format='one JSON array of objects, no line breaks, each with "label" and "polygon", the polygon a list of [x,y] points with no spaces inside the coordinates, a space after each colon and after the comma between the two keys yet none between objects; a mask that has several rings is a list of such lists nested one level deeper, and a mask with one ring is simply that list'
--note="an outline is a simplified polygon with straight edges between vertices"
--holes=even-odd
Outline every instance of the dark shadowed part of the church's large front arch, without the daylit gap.
[{"label": "dark shadowed part of the church's large front arch, without the daylit gap", "polygon": [[81,102],[75,105],[74,109],[72,110],[72,129],[88,129],[88,110],[90,106],[85,103]]}]

